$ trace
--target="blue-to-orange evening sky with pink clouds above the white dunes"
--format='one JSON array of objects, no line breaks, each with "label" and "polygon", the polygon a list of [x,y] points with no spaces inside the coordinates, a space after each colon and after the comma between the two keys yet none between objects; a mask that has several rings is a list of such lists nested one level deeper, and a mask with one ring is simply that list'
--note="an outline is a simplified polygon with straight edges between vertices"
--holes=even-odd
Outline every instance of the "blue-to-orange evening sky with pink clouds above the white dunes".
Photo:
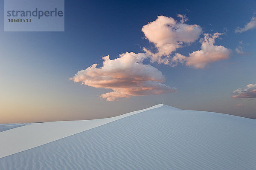
[{"label": "blue-to-orange evening sky with pink clouds above the white dunes", "polygon": [[4,32],[3,7],[0,123],[161,103],[256,118],[255,0],[65,0],[64,32]]}]

